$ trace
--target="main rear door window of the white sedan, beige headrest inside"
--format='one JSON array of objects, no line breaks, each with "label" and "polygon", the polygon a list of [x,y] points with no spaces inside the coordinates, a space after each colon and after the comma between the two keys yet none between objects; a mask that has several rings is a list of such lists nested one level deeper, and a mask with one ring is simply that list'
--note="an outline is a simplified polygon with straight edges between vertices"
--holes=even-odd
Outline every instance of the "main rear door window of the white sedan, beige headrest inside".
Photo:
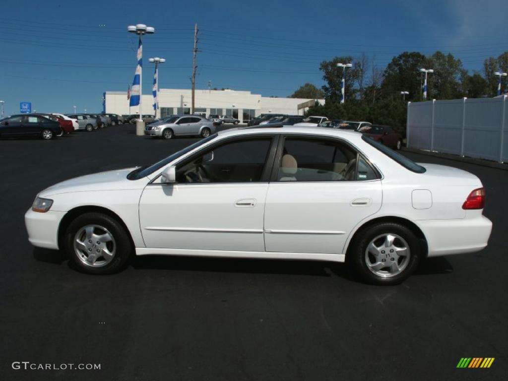
[{"label": "main rear door window of the white sedan, beige headrest inside", "polygon": [[278,181],[355,180],[357,152],[341,142],[286,138]]}]

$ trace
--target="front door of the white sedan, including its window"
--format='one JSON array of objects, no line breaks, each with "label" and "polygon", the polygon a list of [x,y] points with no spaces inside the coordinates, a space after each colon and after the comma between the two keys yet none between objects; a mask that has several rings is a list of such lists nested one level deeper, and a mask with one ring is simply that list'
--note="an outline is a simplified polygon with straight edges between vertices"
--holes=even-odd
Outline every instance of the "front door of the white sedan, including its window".
[{"label": "front door of the white sedan, including its window", "polygon": [[157,178],[139,204],[146,247],[264,251],[263,218],[272,136],[218,142]]}]

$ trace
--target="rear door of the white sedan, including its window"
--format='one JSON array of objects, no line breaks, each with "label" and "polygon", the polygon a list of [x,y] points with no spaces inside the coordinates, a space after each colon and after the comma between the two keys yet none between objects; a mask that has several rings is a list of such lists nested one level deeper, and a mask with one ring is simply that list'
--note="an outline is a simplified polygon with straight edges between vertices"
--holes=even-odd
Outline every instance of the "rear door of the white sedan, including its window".
[{"label": "rear door of the white sedan, including its window", "polygon": [[266,251],[342,253],[352,229],[381,207],[378,175],[338,139],[282,144],[266,198]]}]

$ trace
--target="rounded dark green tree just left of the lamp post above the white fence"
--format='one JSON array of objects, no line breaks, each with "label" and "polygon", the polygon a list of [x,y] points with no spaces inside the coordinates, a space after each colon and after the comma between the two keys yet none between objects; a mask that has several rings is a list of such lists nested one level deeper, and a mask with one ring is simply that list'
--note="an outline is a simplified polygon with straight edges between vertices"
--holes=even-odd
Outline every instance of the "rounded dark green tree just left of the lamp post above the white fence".
[{"label": "rounded dark green tree just left of the lamp post above the white fence", "polygon": [[428,68],[429,60],[419,52],[404,52],[388,64],[381,85],[380,96],[392,97],[400,91],[409,91],[408,101],[422,100],[421,68]]}]

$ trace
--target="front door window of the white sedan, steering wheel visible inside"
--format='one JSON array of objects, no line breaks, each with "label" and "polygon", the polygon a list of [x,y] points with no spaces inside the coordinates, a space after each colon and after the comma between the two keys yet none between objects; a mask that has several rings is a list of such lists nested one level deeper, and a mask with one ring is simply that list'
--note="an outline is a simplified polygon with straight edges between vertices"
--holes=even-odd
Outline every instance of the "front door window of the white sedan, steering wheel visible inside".
[{"label": "front door window of the white sedan, steering wheel visible inside", "polygon": [[224,143],[179,165],[180,183],[261,181],[272,138]]}]

